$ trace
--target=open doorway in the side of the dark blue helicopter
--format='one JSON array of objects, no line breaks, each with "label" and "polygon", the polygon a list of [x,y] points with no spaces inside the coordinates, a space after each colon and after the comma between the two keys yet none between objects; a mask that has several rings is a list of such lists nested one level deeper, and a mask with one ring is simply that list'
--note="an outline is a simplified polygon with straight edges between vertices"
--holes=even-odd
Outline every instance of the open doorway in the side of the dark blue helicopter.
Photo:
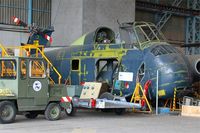
[{"label": "open doorway in the side of the dark blue helicopter", "polygon": [[96,81],[107,82],[112,86],[117,68],[117,59],[99,59],[96,62]]}]

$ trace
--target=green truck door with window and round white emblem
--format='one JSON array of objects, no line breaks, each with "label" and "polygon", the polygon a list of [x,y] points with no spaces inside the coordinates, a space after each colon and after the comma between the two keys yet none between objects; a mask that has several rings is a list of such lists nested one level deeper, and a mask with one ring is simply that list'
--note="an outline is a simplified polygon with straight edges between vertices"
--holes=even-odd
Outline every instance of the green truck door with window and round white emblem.
[{"label": "green truck door with window and round white emblem", "polygon": [[30,59],[28,73],[28,97],[34,105],[46,105],[48,102],[48,77],[43,60]]}]

